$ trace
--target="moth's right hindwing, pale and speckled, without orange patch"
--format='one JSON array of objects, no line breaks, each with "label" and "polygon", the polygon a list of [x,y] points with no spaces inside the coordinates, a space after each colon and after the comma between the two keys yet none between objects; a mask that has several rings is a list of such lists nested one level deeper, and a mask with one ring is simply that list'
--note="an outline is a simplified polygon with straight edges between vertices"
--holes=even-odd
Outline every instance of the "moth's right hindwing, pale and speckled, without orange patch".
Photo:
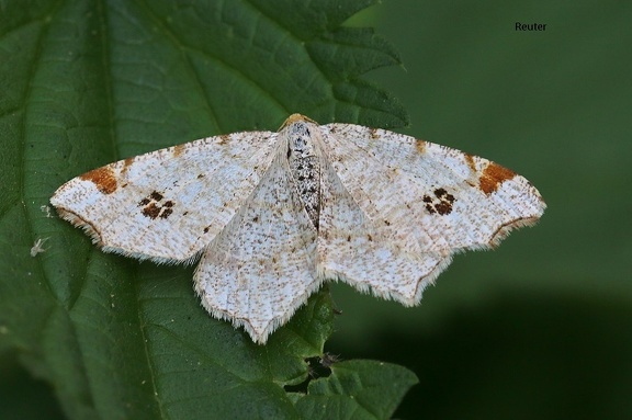
[{"label": "moth's right hindwing, pale and speckled, without orange patch", "polygon": [[321,177],[318,254],[323,275],[408,306],[419,302],[450,254],[425,252],[393,215],[387,216],[393,219],[390,226],[384,217],[370,217],[331,164],[325,166]]}]

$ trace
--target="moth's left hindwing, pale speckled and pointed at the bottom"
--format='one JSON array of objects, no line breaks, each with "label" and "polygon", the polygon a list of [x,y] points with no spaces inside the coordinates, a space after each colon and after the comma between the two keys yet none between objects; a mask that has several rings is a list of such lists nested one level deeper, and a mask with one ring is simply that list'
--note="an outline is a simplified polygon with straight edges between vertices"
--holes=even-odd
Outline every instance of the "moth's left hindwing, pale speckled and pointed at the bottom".
[{"label": "moth's left hindwing, pale speckled and pointed at the bottom", "polygon": [[[280,145],[282,146],[282,145]],[[205,249],[194,275],[202,305],[258,343],[321,284],[316,229],[279,147],[246,204]]]}]

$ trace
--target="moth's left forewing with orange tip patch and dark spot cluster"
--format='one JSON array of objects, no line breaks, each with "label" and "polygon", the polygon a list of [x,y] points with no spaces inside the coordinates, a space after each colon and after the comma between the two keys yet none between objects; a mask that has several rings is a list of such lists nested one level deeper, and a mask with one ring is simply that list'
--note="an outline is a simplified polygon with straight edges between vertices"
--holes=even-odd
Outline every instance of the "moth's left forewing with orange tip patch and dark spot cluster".
[{"label": "moth's left forewing with orange tip patch and dark spot cluster", "polygon": [[104,251],[187,261],[255,190],[275,140],[276,133],[236,133],[128,158],[68,181],[50,203]]}]

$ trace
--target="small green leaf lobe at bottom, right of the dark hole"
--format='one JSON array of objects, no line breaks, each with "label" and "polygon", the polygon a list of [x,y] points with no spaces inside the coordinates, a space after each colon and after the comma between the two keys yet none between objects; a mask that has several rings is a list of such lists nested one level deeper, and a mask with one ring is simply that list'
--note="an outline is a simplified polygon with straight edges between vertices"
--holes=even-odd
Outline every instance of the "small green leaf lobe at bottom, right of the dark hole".
[{"label": "small green leaf lobe at bottom, right of the dark hole", "polygon": [[346,361],[331,375],[313,381],[308,394],[295,395],[305,419],[387,419],[417,377],[408,370],[375,361]]}]

